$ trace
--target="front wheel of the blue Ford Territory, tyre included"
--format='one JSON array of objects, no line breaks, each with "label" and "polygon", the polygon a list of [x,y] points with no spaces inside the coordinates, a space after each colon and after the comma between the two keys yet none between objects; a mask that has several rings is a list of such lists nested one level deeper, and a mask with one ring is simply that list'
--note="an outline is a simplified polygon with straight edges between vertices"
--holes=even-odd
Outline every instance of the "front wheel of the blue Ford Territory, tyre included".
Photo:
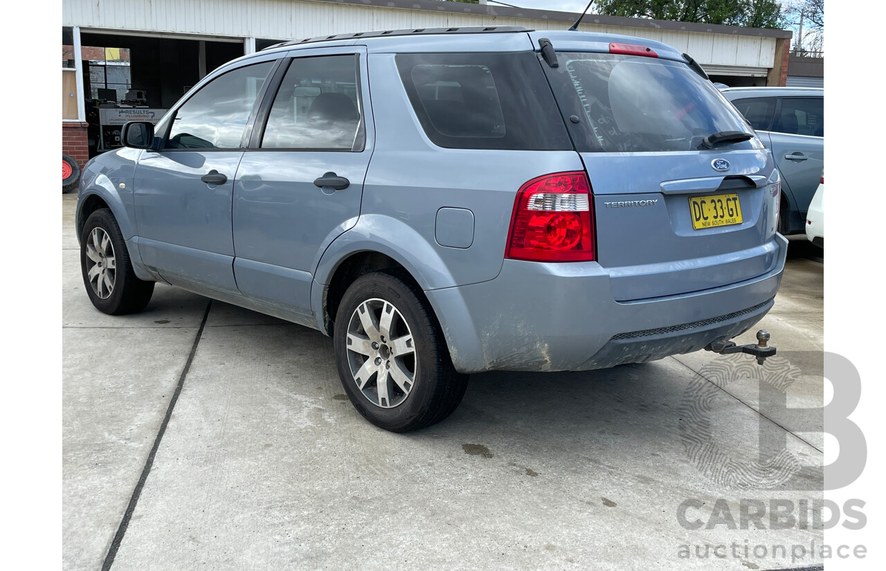
[{"label": "front wheel of the blue Ford Territory, tyre included", "polygon": [[138,313],[154,292],[154,282],[136,277],[120,226],[107,208],[89,214],[80,236],[83,285],[92,305],[109,315]]}]

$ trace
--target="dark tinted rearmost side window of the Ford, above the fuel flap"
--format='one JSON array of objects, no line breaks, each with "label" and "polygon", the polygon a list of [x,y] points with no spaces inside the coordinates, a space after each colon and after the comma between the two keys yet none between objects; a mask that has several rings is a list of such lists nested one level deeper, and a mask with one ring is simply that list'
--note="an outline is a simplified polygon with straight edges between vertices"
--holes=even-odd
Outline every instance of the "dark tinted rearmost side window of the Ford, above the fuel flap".
[{"label": "dark tinted rearmost side window of the Ford, above the fuel flap", "polygon": [[530,52],[400,54],[397,66],[425,135],[440,147],[572,149]]}]

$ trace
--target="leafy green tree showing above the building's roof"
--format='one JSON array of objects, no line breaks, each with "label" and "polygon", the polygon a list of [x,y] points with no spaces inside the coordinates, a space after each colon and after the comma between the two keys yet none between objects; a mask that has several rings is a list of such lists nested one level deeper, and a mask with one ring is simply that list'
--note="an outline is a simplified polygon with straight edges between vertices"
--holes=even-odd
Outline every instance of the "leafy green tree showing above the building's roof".
[{"label": "leafy green tree showing above the building's roof", "polygon": [[784,23],[776,0],[597,0],[595,5],[601,14],[629,18],[776,28]]}]

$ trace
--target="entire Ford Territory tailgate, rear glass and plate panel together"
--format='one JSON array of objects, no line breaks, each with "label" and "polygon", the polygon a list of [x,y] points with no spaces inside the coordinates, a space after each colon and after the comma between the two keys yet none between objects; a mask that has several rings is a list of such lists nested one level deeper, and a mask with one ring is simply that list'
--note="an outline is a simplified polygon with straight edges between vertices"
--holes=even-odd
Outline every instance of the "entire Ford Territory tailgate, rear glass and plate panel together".
[{"label": "entire Ford Territory tailgate, rear glass and plate panel together", "polygon": [[742,282],[777,263],[771,154],[687,65],[558,52],[544,65],[591,181],[597,259],[618,301]]}]

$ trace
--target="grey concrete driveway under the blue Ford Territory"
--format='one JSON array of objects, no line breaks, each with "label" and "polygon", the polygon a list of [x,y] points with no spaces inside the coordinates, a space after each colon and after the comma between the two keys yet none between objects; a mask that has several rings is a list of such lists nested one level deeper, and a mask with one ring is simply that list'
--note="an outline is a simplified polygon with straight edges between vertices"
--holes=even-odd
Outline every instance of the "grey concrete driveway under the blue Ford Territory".
[{"label": "grey concrete driveway under the blue Ford Territory", "polygon": [[761,372],[789,378],[788,406],[822,405],[823,260],[802,238],[760,324],[779,348],[766,367],[702,351],[478,374],[450,419],[395,435],[346,400],[316,331],[162,285],[144,313],[98,313],[80,275],[76,197],[62,200],[66,570],[820,562],[791,557],[822,542],[812,523],[751,517],[822,496],[820,475],[785,482],[786,464],[759,452],[762,430],[781,459],[823,463],[820,433],[758,406]]}]

